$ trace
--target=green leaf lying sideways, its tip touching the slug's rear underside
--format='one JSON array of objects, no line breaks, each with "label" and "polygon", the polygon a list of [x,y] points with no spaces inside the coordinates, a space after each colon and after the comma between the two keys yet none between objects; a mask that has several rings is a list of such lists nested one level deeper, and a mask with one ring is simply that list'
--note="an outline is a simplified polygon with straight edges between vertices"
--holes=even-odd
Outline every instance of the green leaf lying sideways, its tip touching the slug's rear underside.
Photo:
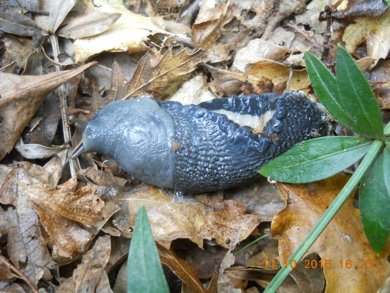
[{"label": "green leaf lying sideways, its tip touching the slug's rear underside", "polygon": [[280,182],[307,183],[328,178],[362,158],[372,141],[353,136],[320,137],[301,142],[260,169]]}]

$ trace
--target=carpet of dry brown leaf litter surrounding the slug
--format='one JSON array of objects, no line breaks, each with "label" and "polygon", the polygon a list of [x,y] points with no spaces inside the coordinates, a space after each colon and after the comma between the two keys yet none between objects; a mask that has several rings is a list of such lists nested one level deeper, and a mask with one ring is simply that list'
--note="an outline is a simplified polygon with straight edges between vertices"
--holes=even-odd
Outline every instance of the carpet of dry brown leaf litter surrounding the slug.
[{"label": "carpet of dry brown leaf litter surrounding the slug", "polygon": [[[68,149],[77,147],[81,133],[65,141],[58,122],[66,113],[89,121],[104,105],[139,95],[183,104],[286,89],[314,97],[303,52],[322,56],[328,32],[318,18],[330,1],[133,2],[28,1],[24,10],[0,4],[0,232],[2,255],[12,265],[0,261],[2,290],[119,292],[126,274],[115,268],[127,267],[123,258],[141,205],[162,263],[186,290],[257,290],[268,285],[346,181],[335,176],[310,185],[278,184],[285,204],[265,180],[177,196],[139,185],[98,156],[82,156],[78,175],[71,177]],[[331,2],[337,11],[331,54],[323,61],[334,65],[337,43],[344,42],[388,109],[389,9],[384,1]],[[58,43],[58,56],[49,39]],[[121,56],[131,62],[117,62],[125,60]],[[62,64],[65,60],[73,65]],[[108,65],[111,82],[106,73],[88,69],[94,60]],[[59,86],[63,89],[55,90]],[[68,95],[67,107],[54,102],[61,92]],[[27,143],[16,145],[20,137]],[[279,236],[232,256],[271,231]],[[384,292],[389,242],[377,255],[364,237],[351,198],[299,263],[329,259],[331,268],[296,268],[281,288],[334,292],[359,283],[355,292],[382,286]],[[340,267],[347,259],[356,266],[353,272]]]}]

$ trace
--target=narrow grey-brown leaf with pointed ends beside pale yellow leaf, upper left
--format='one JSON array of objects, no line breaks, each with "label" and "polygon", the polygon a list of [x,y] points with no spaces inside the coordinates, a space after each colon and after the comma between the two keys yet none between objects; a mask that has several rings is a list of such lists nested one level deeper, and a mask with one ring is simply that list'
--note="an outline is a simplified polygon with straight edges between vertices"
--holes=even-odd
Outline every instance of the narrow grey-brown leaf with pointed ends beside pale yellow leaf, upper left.
[{"label": "narrow grey-brown leaf with pointed ends beside pale yellow leaf, upper left", "polygon": [[70,39],[95,36],[107,30],[120,16],[120,13],[89,13],[70,21],[56,34]]}]

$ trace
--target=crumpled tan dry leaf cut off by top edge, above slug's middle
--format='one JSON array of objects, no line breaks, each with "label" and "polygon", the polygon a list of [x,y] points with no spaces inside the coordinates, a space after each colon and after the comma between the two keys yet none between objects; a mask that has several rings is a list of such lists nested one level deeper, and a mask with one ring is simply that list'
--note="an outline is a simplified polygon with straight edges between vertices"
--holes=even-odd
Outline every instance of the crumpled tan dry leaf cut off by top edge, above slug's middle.
[{"label": "crumpled tan dry leaf cut off by top edge, above slug's middle", "polygon": [[212,63],[230,60],[252,34],[263,33],[273,5],[273,0],[203,1],[192,29],[195,46],[207,51]]}]

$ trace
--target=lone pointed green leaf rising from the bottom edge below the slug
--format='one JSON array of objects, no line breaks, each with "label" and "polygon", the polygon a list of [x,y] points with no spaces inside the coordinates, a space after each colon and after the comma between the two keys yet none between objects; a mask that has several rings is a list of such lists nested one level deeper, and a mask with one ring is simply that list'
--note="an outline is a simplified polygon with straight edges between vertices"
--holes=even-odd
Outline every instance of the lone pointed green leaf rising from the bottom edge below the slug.
[{"label": "lone pointed green leaf rising from the bottom edge below the slug", "polygon": [[144,206],[138,210],[127,260],[128,293],[169,293]]}]

